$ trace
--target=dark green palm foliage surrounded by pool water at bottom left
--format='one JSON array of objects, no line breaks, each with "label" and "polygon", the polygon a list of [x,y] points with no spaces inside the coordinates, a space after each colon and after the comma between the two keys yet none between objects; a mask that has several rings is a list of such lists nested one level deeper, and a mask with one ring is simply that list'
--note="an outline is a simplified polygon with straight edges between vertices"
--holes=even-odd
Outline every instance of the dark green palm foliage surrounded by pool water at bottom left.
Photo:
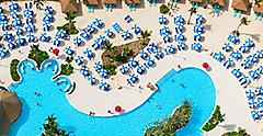
[{"label": "dark green palm foliage surrounded by pool water at bottom left", "polygon": [[42,136],[69,136],[70,133],[62,128],[58,128],[57,118],[54,115],[49,115],[46,118],[46,123],[43,124],[44,131]]}]

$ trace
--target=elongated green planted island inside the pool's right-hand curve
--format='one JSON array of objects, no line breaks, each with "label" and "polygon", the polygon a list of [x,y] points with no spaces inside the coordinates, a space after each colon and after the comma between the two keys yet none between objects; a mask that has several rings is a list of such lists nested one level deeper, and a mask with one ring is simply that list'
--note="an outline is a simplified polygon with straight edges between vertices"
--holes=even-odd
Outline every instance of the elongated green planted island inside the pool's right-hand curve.
[{"label": "elongated green planted island inside the pool's right-hand curve", "polygon": [[184,126],[190,121],[192,115],[192,103],[184,100],[169,118],[160,120],[145,132],[145,136],[174,136],[175,132]]}]

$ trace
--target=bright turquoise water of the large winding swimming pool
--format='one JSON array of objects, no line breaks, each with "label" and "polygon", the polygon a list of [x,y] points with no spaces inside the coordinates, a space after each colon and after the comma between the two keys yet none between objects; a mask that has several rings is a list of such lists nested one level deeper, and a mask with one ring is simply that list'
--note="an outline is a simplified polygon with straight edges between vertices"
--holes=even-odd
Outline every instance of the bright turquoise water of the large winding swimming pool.
[{"label": "bright turquoise water of the large winding swimming pool", "polygon": [[24,72],[20,71],[22,81],[9,88],[18,93],[23,103],[22,114],[12,124],[10,136],[39,135],[44,120],[52,114],[66,131],[73,132],[71,135],[76,136],[142,136],[150,123],[171,115],[186,98],[193,102],[193,116],[188,125],[176,135],[199,136],[199,128],[210,116],[216,103],[215,87],[210,78],[199,69],[187,68],[179,72],[168,72],[158,81],[160,90],[132,112],[113,117],[88,116],[73,109],[66,92],[61,91],[70,80],[64,77],[66,81],[59,86],[57,80],[50,80],[56,75],[55,60],[52,60],[53,66],[43,67],[41,71],[32,70],[32,66],[27,64],[32,63],[25,63]]}]

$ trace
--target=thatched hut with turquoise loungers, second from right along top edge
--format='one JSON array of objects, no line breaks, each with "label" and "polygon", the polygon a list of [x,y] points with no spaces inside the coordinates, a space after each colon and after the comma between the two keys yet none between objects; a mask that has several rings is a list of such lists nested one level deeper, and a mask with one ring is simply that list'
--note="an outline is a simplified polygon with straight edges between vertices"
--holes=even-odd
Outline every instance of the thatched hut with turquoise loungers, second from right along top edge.
[{"label": "thatched hut with turquoise loungers, second from right along top edge", "polygon": [[232,9],[235,10],[233,16],[240,18],[242,12],[249,10],[249,0],[233,0]]}]

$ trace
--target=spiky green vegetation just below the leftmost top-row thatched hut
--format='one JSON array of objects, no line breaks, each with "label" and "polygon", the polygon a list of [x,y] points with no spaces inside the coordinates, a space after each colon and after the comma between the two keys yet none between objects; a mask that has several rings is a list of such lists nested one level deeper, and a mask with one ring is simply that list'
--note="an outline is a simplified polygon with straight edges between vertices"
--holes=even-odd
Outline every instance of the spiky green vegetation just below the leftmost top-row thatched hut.
[{"label": "spiky green vegetation just below the leftmost top-row thatched hut", "polygon": [[76,13],[72,12],[66,13],[65,19],[68,21],[68,23],[64,24],[62,26],[57,26],[57,30],[65,30],[68,35],[78,34],[79,31],[75,26],[76,21],[73,21],[76,16],[77,16]]}]

